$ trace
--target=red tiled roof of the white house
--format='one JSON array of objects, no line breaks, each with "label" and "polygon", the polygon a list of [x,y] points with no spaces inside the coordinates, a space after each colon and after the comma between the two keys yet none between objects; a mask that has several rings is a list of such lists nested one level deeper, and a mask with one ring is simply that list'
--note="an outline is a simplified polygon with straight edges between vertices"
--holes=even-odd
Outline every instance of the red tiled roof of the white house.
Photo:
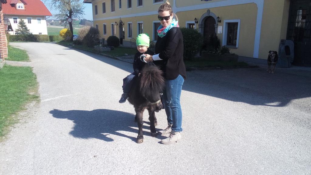
[{"label": "red tiled roof of the white house", "polygon": [[[15,3],[18,0],[11,0],[10,3],[2,4],[2,11],[7,15],[38,15],[38,16],[53,16],[40,0],[22,0],[26,3],[24,10],[15,9]],[[15,2],[14,4],[11,4]]]}]

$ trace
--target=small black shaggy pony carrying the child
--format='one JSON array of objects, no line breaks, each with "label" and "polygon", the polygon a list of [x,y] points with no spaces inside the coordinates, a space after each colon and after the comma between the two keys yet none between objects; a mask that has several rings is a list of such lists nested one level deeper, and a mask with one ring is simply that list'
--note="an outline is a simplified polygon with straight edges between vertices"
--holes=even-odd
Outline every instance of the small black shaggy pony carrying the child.
[{"label": "small black shaggy pony carrying the child", "polygon": [[153,63],[146,64],[140,74],[135,77],[132,88],[128,94],[128,101],[134,105],[135,108],[135,121],[138,123],[138,136],[137,143],[143,142],[142,133],[142,115],[145,109],[149,112],[150,131],[151,136],[156,137],[157,120],[155,112],[162,109],[160,100],[160,93],[165,85],[163,72],[153,65]]}]

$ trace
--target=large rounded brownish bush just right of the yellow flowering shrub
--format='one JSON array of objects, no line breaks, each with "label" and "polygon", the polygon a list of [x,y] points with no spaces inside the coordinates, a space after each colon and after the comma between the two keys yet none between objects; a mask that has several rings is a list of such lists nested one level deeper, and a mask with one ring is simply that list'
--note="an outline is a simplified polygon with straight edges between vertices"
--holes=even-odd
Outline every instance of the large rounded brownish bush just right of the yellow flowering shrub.
[{"label": "large rounded brownish bush just right of the yellow flowering shrub", "polygon": [[94,47],[99,43],[100,31],[92,26],[84,26],[78,31],[78,38],[87,47]]}]

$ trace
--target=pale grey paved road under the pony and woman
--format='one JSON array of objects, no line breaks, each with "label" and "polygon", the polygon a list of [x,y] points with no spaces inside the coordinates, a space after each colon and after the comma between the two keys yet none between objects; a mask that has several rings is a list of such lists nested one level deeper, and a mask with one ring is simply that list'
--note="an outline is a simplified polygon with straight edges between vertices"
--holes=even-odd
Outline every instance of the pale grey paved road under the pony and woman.
[{"label": "pale grey paved road under the pony and woman", "polygon": [[[262,68],[188,72],[183,140],[135,143],[134,109],[118,104],[127,62],[51,43],[27,49],[41,103],[0,144],[0,174],[310,174],[311,78]],[[158,130],[165,112],[156,114]]]}]

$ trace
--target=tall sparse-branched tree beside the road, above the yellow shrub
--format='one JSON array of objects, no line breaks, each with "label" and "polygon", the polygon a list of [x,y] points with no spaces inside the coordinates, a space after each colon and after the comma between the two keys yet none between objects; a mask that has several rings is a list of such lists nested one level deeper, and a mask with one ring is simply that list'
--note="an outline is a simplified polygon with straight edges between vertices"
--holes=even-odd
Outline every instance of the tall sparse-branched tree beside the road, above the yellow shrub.
[{"label": "tall sparse-branched tree beside the road, above the yellow shrub", "polygon": [[[56,19],[61,21],[67,21],[70,19],[80,19],[84,15],[84,5],[81,0],[51,0],[51,8],[59,11],[58,14],[54,15]],[[68,21],[69,29],[73,34],[72,21]],[[73,36],[71,41],[73,40]]]}]

